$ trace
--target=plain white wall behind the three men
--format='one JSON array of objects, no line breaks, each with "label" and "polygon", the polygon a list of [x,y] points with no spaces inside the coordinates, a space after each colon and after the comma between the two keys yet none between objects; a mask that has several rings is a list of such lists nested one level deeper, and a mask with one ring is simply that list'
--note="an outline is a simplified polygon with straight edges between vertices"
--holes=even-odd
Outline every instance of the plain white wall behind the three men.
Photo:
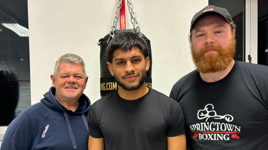
[{"label": "plain white wall behind the three men", "polygon": [[[190,23],[208,0],[132,3],[141,31],[151,40],[153,89],[169,95],[173,84],[194,69],[188,47]],[[32,104],[52,86],[54,63],[65,53],[84,59],[89,76],[84,93],[92,104],[100,98],[97,42],[111,31],[117,5],[117,0],[28,0]],[[126,28],[133,28],[127,9]]]}]

